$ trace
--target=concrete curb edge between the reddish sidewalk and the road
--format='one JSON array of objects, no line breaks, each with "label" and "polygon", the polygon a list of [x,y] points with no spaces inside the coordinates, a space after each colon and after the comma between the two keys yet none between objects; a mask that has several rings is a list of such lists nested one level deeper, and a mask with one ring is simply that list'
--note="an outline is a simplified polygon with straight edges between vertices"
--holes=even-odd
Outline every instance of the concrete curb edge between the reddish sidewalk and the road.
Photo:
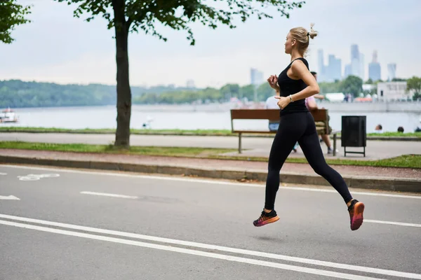
[{"label": "concrete curb edge between the reddish sidewalk and the road", "polygon": [[[171,174],[198,176],[212,179],[252,179],[266,181],[267,172],[261,170],[211,169],[206,167],[175,167],[169,165],[137,165],[119,162],[88,162],[78,160],[52,160],[39,158],[23,158],[0,155],[0,163],[45,165],[54,167],[70,167],[80,169],[103,169],[124,172],[140,172],[148,174]],[[280,176],[282,183],[302,185],[330,186],[321,176],[312,174],[298,174],[283,172]],[[363,188],[370,190],[393,190],[398,192],[421,193],[421,179],[394,179],[389,177],[372,176],[344,176],[349,188]]]}]

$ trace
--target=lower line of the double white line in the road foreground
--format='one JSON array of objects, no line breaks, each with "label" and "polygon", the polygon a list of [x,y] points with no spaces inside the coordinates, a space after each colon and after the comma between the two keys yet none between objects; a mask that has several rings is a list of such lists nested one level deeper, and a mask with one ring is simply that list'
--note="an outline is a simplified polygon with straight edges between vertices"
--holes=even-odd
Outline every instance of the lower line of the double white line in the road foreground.
[{"label": "lower line of the double white line in the road foreground", "polygon": [[[87,233],[73,232],[73,231],[69,231],[69,230],[58,230],[58,229],[54,229],[54,228],[40,227],[38,225],[28,225],[28,224],[25,224],[25,223],[14,223],[14,222],[0,220],[0,224],[11,225],[11,226],[14,226],[14,227],[17,227],[17,228],[39,230],[39,231],[42,231],[42,232],[52,232],[52,233],[56,233],[56,234],[59,234],[59,235],[69,235],[69,236],[73,236],[73,237],[96,239],[96,240],[114,242],[114,243],[119,243],[119,244],[127,244],[127,245],[140,246],[140,247],[145,247],[145,248],[154,248],[154,249],[163,250],[163,251],[185,253],[185,254],[189,254],[189,255],[200,255],[202,257],[207,257],[207,258],[229,260],[229,261],[232,261],[232,262],[242,262],[242,263],[247,263],[247,264],[250,264],[250,265],[261,265],[261,266],[265,266],[265,267],[274,267],[274,268],[279,268],[279,269],[291,270],[291,271],[295,271],[295,272],[303,272],[303,273],[308,273],[308,274],[330,276],[330,277],[335,277],[335,278],[340,278],[340,279],[352,279],[352,280],[354,280],[354,279],[361,279],[361,280],[362,279],[378,279],[378,278],[372,278],[372,277],[367,277],[367,276],[359,276],[359,275],[354,275],[354,274],[332,272],[332,271],[323,270],[323,269],[314,269],[314,268],[300,267],[300,266],[295,266],[295,265],[284,265],[284,264],[281,264],[281,263],[278,263],[278,262],[268,262],[268,261],[264,261],[264,260],[254,260],[254,259],[250,259],[250,258],[241,258],[241,257],[233,256],[233,255],[223,255],[223,254],[219,254],[219,253],[209,253],[209,252],[192,250],[192,249],[187,249],[187,248],[178,248],[178,247],[173,247],[173,246],[168,246],[168,245],[152,244],[152,243],[146,243],[146,242],[134,241],[134,240],[128,240],[128,239],[121,239],[121,238],[115,238],[115,237],[105,237],[105,236],[101,236],[101,235],[91,235],[91,234],[87,234]],[[414,275],[416,276],[416,274],[414,274]],[[420,275],[420,278],[416,278],[416,279],[421,279],[421,275]]]}]

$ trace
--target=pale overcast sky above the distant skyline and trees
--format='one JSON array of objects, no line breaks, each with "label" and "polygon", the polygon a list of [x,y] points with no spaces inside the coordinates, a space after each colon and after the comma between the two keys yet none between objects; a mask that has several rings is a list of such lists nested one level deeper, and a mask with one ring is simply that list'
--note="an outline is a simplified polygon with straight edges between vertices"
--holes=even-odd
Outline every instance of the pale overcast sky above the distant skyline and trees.
[{"label": "pale overcast sky above the distant skyline and trees", "polygon": [[[73,18],[74,6],[53,0],[32,3],[32,20],[13,31],[15,42],[0,44],[0,80],[21,79],[55,83],[115,84],[115,43],[105,20]],[[250,67],[266,76],[281,72],[290,57],[283,52],[288,30],[302,26],[319,31],[307,59],[317,70],[317,50],[342,59],[342,73],[356,43],[365,55],[366,79],[373,50],[378,52],[382,78],[387,64],[396,63],[396,76],[421,76],[420,0],[307,0],[290,19],[271,10],[274,19],[250,19],[238,28],[216,30],[194,25],[196,45],[184,31],[163,29],[167,42],[145,34],[131,34],[131,85],[220,87],[250,83]]]}]

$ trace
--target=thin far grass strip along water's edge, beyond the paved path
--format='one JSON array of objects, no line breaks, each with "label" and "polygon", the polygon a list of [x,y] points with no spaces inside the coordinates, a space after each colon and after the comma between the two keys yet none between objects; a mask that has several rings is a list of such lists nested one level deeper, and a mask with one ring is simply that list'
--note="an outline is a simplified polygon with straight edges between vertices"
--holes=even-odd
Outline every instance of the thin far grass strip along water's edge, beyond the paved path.
[{"label": "thin far grass strip along water's edge, beyond the paved path", "polygon": [[[34,133],[80,133],[80,134],[114,134],[111,128],[70,130],[55,127],[0,127],[0,132],[34,132]],[[131,134],[172,134],[172,135],[208,135],[208,136],[236,136],[231,130],[131,130]],[[265,136],[260,134],[259,136]],[[274,137],[274,134],[267,134]],[[340,134],[338,134],[340,136]],[[384,132],[368,133],[368,137],[417,137],[421,138],[421,132]]]}]

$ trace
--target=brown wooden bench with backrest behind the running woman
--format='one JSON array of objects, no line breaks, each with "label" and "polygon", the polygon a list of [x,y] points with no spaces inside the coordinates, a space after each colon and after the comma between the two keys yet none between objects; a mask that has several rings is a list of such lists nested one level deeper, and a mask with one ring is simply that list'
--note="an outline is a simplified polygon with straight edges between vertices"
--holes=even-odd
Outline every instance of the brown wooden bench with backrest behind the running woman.
[{"label": "brown wooden bench with backrest behind the running woman", "polygon": [[[329,134],[328,110],[316,109],[311,112],[316,123],[317,134]],[[234,130],[234,120],[274,120],[279,121],[278,109],[231,109],[231,131],[239,134],[239,153],[241,153],[241,134],[276,134],[270,130]],[[336,155],[336,139],[339,131],[333,134],[333,155]]]}]

